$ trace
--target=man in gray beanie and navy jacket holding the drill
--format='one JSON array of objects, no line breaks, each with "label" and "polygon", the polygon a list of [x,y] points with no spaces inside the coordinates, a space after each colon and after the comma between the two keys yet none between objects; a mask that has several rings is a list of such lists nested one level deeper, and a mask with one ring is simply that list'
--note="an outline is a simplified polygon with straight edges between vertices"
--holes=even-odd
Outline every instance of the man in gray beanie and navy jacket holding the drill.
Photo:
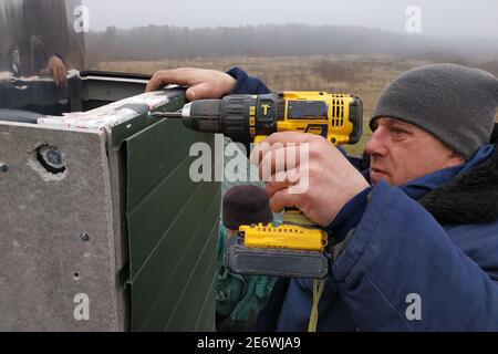
[{"label": "man in gray beanie and navy jacket holding the drill", "polygon": [[[148,90],[174,82],[191,100],[267,92],[239,69],[158,72]],[[321,137],[267,139],[309,143],[309,190],[291,195],[273,178],[267,192],[274,211],[295,206],[332,237],[319,331],[498,330],[497,106],[491,74],[428,65],[382,94],[364,175]],[[312,299],[311,281],[278,283],[258,329],[305,331]]]}]

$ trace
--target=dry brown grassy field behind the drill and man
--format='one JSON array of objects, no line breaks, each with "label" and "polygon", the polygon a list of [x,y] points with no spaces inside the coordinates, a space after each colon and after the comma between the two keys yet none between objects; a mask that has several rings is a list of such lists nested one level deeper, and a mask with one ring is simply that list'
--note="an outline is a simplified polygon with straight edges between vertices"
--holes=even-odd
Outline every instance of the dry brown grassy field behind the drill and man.
[{"label": "dry brown grassy field behind the drill and man", "polygon": [[359,95],[364,105],[364,134],[350,154],[361,155],[371,136],[367,122],[375,104],[387,84],[403,72],[428,63],[453,62],[488,70],[498,75],[498,60],[471,60],[442,54],[422,54],[416,58],[394,55],[323,55],[283,58],[224,58],[167,61],[104,62],[93,70],[152,74],[157,70],[181,66],[207,67],[226,71],[232,66],[245,69],[251,76],[260,77],[272,91],[328,91]]}]

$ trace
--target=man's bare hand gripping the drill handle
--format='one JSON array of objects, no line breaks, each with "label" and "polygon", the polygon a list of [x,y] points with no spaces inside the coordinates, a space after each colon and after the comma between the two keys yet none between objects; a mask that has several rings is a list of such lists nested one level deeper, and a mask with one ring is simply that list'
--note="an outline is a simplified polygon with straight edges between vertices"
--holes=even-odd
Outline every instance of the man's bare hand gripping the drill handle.
[{"label": "man's bare hand gripping the drill handle", "polygon": [[[297,148],[305,147],[303,144],[308,144],[308,156],[295,154]],[[273,134],[252,152],[251,162],[259,164],[260,177],[271,171],[267,194],[274,212],[295,207],[321,226],[330,225],[347,201],[370,186],[341,152],[318,135]],[[307,188],[293,192],[291,188],[304,177]]]}]

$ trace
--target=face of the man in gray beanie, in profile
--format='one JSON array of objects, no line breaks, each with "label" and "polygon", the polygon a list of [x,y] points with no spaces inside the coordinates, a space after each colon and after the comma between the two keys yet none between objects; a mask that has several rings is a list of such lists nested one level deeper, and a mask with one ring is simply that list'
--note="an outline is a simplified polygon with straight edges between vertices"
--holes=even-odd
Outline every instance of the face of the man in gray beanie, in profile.
[{"label": "face of the man in gray beanie, in profile", "polygon": [[413,124],[381,117],[375,121],[373,131],[365,149],[372,159],[370,178],[373,184],[385,179],[400,186],[464,163],[460,154]]}]

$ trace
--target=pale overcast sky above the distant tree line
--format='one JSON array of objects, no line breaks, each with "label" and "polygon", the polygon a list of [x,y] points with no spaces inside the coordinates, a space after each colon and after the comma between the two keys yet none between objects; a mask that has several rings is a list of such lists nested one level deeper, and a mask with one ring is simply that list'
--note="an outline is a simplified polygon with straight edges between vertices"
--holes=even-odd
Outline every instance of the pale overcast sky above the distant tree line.
[{"label": "pale overcast sky above the distant tree line", "polygon": [[498,0],[83,0],[92,30],[238,27],[288,23],[353,24],[406,33],[409,6],[422,10],[422,34],[498,38]]}]

